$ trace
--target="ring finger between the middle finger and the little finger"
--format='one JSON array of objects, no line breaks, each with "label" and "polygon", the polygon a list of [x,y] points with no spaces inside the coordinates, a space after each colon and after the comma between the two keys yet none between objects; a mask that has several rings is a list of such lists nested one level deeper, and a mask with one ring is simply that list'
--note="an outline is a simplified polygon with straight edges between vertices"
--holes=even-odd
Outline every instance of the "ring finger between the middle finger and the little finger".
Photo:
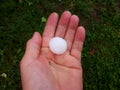
[{"label": "ring finger between the middle finger and the little finger", "polygon": [[75,32],[76,32],[76,29],[78,27],[78,23],[79,23],[78,16],[72,15],[70,18],[68,30],[67,30],[66,35],[65,35],[65,40],[67,41],[67,44],[68,44],[68,50],[71,49],[73,39],[75,36]]}]

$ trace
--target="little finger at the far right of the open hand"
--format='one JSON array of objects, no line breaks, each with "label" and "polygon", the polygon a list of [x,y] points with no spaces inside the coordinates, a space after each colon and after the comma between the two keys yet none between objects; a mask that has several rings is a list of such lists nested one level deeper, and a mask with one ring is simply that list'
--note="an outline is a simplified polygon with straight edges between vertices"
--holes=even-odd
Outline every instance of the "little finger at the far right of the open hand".
[{"label": "little finger at the far right of the open hand", "polygon": [[77,29],[74,42],[72,45],[72,49],[71,49],[71,55],[76,57],[77,59],[81,58],[84,39],[85,39],[85,29],[84,27],[80,26]]}]

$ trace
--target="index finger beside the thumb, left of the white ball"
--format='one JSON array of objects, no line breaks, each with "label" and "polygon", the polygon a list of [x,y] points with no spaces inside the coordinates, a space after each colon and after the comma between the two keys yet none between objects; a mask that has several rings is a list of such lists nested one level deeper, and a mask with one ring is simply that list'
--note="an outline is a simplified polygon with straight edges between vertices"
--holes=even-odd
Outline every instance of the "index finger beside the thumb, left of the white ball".
[{"label": "index finger beside the thumb, left of the white ball", "polygon": [[52,13],[47,20],[45,30],[43,32],[43,43],[42,47],[48,47],[50,39],[54,36],[55,34],[55,29],[57,26],[58,22],[58,14],[57,13]]}]

